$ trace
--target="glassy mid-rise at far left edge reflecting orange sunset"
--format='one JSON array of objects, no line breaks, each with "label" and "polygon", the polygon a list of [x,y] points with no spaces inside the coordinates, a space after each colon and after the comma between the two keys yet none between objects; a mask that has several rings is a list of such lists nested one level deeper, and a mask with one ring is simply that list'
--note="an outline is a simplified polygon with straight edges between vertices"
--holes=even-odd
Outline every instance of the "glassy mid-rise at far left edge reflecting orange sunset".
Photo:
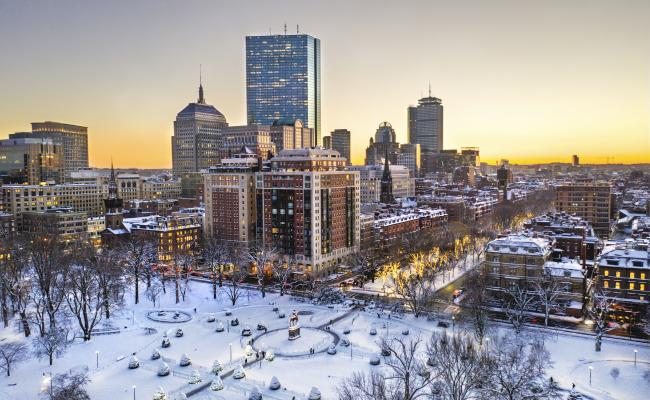
[{"label": "glassy mid-rise at far left edge reflecting orange sunset", "polygon": [[15,133],[0,140],[0,174],[5,183],[61,183],[63,149],[49,138]]}]

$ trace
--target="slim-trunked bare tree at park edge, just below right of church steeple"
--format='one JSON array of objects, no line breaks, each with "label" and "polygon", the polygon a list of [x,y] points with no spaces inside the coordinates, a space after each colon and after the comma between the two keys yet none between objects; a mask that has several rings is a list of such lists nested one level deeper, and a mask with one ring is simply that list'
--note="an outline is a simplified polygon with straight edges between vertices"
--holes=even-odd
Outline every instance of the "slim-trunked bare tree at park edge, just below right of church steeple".
[{"label": "slim-trunked bare tree at park edge, just below right of church steeple", "polygon": [[132,237],[122,243],[119,252],[123,255],[126,272],[133,280],[134,301],[135,304],[138,304],[140,302],[140,278],[144,275],[147,286],[151,284],[151,263],[156,258],[157,249],[151,241],[144,237]]}]

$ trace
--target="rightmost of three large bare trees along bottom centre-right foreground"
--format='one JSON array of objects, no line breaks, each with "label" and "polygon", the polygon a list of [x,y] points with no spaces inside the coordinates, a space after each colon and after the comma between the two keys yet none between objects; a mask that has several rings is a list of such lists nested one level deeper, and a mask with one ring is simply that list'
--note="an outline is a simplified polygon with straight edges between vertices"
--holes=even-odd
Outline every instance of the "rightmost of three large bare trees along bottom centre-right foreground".
[{"label": "rightmost of three large bare trees along bottom centre-right foreground", "polygon": [[490,351],[490,374],[484,392],[494,400],[557,398],[557,386],[546,378],[551,364],[544,341],[517,335],[496,340]]}]

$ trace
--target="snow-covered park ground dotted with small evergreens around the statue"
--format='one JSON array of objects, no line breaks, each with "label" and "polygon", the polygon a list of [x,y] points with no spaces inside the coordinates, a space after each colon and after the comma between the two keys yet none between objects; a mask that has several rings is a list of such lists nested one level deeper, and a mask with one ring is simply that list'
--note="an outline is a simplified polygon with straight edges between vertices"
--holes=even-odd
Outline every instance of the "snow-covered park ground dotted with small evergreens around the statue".
[{"label": "snow-covered park ground dotted with small evergreens around the statue", "polygon": [[[273,311],[276,307],[279,310]],[[169,310],[172,314],[174,310],[184,311],[192,318],[180,323],[155,322],[147,318],[147,313],[158,308]],[[226,316],[225,310],[230,308],[232,316]],[[287,317],[293,310],[304,314],[300,316],[300,325],[305,329],[300,339],[289,342],[285,340]],[[279,318],[279,313],[286,314],[285,318]],[[208,322],[211,315],[216,320]],[[332,325],[334,335],[323,330],[306,329],[324,327],[338,317],[343,318]],[[232,318],[239,320],[239,326],[230,326]],[[225,330],[216,332],[220,322]],[[224,379],[224,390],[213,392],[206,388],[191,396],[192,399],[247,399],[247,393],[254,386],[260,388],[265,399],[290,400],[294,396],[303,399],[312,387],[322,392],[323,399],[336,399],[336,386],[343,378],[354,371],[381,368],[369,365],[368,361],[372,355],[379,353],[378,342],[382,337],[402,336],[402,332],[408,329],[409,337],[419,335],[427,340],[431,332],[442,329],[435,322],[423,318],[378,319],[376,313],[353,311],[342,306],[315,306],[278,294],[268,294],[262,299],[256,291],[244,295],[236,307],[230,307],[225,296],[216,301],[212,299],[209,284],[195,282],[184,303],[174,304],[173,294],[168,292],[160,307],[153,308],[147,300],[128,307],[111,319],[111,325],[121,328],[120,333],[98,335],[90,342],[74,343],[61,358],[54,360],[53,367],[47,365],[47,360],[34,357],[17,364],[11,377],[0,378],[0,399],[36,399],[46,390],[45,376],[79,368],[86,368],[89,372],[91,383],[88,390],[93,400],[131,399],[134,390],[137,399],[151,399],[159,386],[170,395],[187,392],[197,387],[196,384],[188,384],[194,369],[201,373],[203,382],[210,382],[210,369],[215,360],[219,360],[225,370],[254,360],[254,355],[245,354],[250,337],[242,337],[241,331],[249,327],[251,337],[257,337],[263,333],[257,330],[258,323],[265,325],[268,333],[257,339],[254,347],[273,350],[284,356],[277,356],[273,361],[251,363],[245,368],[244,379],[227,377]],[[180,338],[175,336],[178,328],[184,332]],[[377,331],[374,336],[369,334],[372,328]],[[348,334],[343,333],[346,329],[350,329]],[[163,349],[161,341],[164,334],[169,337],[171,346]],[[339,343],[336,354],[330,355],[325,349],[335,336],[347,338],[351,346],[345,347]],[[25,339],[12,327],[0,330],[0,340]],[[555,333],[547,335],[546,343],[554,362],[550,375],[563,388],[569,389],[575,383],[581,392],[602,400],[648,398],[650,381],[644,379],[643,375],[650,370],[649,346],[605,339],[602,352],[596,353],[591,337]],[[312,347],[316,350],[314,355],[309,354]],[[160,352],[161,360],[151,360],[154,349]],[[638,351],[636,366],[635,349]],[[130,370],[127,364],[133,353],[140,360],[140,367]],[[187,354],[192,361],[188,367],[179,366],[183,354]],[[158,377],[157,370],[163,360],[172,373]],[[617,377],[611,374],[614,368],[620,371]],[[274,376],[280,381],[282,389],[268,389]]]}]

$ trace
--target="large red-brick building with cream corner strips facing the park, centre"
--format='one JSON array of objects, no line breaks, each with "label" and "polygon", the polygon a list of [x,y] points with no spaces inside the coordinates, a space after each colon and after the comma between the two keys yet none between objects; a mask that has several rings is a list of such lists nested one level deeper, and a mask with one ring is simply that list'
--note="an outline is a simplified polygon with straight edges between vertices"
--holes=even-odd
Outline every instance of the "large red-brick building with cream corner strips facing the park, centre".
[{"label": "large red-brick building with cream corner strips facing the park, centre", "polygon": [[359,173],[334,150],[282,150],[257,174],[257,236],[324,276],[359,248]]}]

